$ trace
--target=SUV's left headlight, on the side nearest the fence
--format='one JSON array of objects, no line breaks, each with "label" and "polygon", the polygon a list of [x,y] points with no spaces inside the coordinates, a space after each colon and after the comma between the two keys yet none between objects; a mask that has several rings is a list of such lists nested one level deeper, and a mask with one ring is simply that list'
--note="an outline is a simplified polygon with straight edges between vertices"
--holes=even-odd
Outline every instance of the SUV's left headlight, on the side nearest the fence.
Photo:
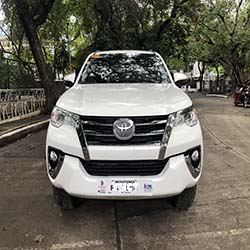
[{"label": "SUV's left headlight, on the side nearest the fence", "polygon": [[80,124],[80,118],[78,115],[58,107],[54,107],[51,113],[50,121],[51,124],[57,128],[64,124],[77,128]]}]

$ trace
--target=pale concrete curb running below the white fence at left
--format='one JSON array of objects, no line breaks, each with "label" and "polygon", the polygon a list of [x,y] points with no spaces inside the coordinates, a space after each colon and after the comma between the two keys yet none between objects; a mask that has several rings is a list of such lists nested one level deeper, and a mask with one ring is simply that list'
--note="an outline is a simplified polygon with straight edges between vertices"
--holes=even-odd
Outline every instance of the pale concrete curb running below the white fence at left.
[{"label": "pale concrete curb running below the white fence at left", "polygon": [[10,142],[22,139],[32,132],[43,130],[48,127],[48,123],[49,119],[7,132],[0,136],[0,147],[4,147]]}]

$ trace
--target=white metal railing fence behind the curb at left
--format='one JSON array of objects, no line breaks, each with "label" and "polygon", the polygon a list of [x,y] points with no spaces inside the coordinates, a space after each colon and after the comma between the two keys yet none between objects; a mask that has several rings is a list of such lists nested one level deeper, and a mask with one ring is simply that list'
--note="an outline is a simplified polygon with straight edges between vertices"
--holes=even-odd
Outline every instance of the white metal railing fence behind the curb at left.
[{"label": "white metal railing fence behind the curb at left", "polygon": [[0,124],[38,114],[44,106],[43,89],[0,89]]}]

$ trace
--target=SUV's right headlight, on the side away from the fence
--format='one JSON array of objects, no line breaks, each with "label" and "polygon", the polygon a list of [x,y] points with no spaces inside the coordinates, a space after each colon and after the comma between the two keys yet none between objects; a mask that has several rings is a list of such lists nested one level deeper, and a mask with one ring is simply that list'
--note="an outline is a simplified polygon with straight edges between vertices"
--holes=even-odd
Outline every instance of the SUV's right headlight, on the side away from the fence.
[{"label": "SUV's right headlight, on the side away from the fence", "polygon": [[198,123],[197,112],[192,106],[181,110],[176,114],[175,126],[184,123],[190,127],[193,127]]}]

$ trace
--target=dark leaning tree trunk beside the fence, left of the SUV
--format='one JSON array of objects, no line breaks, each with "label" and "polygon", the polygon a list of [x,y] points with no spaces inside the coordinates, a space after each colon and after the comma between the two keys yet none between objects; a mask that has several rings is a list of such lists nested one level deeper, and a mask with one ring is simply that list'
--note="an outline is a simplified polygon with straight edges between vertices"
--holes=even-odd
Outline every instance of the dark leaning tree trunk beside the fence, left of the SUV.
[{"label": "dark leaning tree trunk beside the fence, left of the SUV", "polygon": [[[15,25],[21,28],[28,40],[45,91],[47,111],[52,110],[62,91],[61,88],[58,88],[58,86],[54,84],[54,79],[46,63],[39,37],[39,28],[46,22],[54,1],[55,0],[39,2],[33,0],[3,1],[3,7],[7,17],[9,17],[9,20],[14,20]],[[11,13],[11,11],[13,11],[14,14]],[[11,26],[10,32],[17,34],[19,29],[15,30],[13,27],[14,25]]]}]

